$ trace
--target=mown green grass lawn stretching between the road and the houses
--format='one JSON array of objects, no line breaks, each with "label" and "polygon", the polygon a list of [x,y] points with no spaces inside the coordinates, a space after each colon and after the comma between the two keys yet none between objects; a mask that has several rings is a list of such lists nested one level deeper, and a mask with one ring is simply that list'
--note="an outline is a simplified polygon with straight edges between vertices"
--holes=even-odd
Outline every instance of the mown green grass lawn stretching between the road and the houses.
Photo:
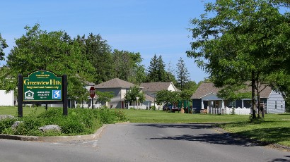
[{"label": "mown green grass lawn stretching between the road and the houses", "polygon": [[[44,107],[23,108],[23,116]],[[116,111],[116,109],[112,109]],[[123,110],[131,123],[212,123],[228,132],[270,144],[290,147],[290,114],[265,114],[265,119],[250,123],[249,116],[167,113],[166,111]],[[0,107],[0,115],[17,116],[17,107]]]}]

